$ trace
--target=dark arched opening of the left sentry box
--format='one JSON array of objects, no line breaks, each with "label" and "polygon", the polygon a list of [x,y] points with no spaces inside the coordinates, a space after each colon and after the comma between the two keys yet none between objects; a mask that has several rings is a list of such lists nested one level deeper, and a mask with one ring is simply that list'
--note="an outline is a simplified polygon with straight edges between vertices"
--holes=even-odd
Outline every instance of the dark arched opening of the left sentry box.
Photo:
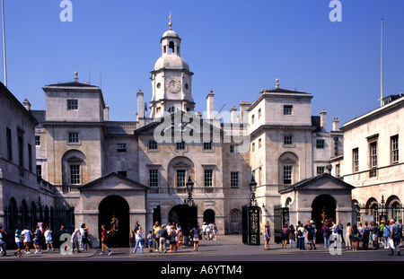
[{"label": "dark arched opening of the left sentry box", "polygon": [[110,231],[114,219],[119,220],[118,233],[110,240],[109,247],[128,247],[127,236],[129,235],[129,205],[122,196],[107,196],[99,207],[98,227],[101,240],[101,225],[105,225]]}]

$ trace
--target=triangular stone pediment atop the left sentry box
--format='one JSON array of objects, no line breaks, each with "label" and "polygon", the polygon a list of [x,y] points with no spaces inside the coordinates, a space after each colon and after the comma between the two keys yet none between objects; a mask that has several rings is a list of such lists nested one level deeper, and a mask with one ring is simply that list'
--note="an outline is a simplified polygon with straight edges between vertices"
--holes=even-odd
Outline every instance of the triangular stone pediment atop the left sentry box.
[{"label": "triangular stone pediment atop the left sentry box", "polygon": [[115,172],[79,187],[80,191],[146,191],[147,189],[147,186],[132,179],[127,179]]}]

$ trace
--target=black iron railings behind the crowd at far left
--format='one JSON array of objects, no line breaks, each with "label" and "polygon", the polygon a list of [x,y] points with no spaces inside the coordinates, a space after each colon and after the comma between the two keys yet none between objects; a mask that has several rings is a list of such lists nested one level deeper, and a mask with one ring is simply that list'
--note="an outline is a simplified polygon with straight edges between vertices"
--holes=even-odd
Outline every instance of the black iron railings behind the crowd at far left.
[{"label": "black iron railings behind the crowd at far left", "polygon": [[14,234],[17,225],[20,225],[22,230],[28,226],[30,231],[34,231],[37,222],[43,222],[45,227],[49,227],[52,231],[54,243],[58,244],[57,231],[60,227],[65,226],[66,232],[72,234],[75,231],[75,207],[60,206],[55,209],[48,206],[44,210],[40,208],[36,210],[31,208],[29,210],[13,210],[11,208],[4,210],[4,231],[7,232],[6,245],[8,248],[15,248]]}]

